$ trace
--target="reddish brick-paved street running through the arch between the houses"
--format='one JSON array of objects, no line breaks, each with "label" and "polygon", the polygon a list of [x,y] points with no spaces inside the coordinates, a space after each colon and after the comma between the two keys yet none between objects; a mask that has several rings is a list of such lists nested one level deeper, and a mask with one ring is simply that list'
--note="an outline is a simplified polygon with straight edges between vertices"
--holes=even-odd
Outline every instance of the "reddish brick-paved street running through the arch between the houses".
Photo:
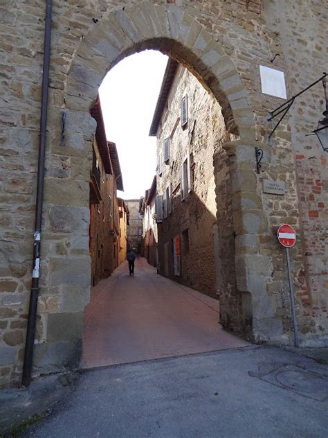
[{"label": "reddish brick-paved street running through the arch between the houses", "polygon": [[244,347],[221,329],[219,302],[156,274],[145,259],[127,262],[92,290],[84,312],[86,368]]}]

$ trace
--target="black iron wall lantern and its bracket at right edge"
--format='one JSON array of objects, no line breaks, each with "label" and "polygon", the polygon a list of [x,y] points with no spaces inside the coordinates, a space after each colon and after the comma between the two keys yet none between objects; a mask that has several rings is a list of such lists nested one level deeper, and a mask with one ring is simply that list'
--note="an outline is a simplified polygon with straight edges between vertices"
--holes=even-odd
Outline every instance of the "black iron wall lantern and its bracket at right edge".
[{"label": "black iron wall lantern and its bracket at right edge", "polygon": [[326,109],[323,112],[323,115],[325,116],[325,118],[322,121],[319,121],[318,127],[316,128],[316,130],[313,130],[313,132],[311,134],[308,134],[308,135],[316,134],[316,136],[318,137],[318,140],[320,141],[322,149],[325,150],[326,152],[328,152],[328,99],[327,99],[327,83],[326,83],[327,79],[326,78],[327,78],[327,73],[323,73],[323,76],[321,76],[321,78],[316,80],[316,82],[313,82],[311,85],[309,85],[309,87],[304,88],[302,91],[300,91],[300,93],[295,94],[295,96],[293,96],[289,100],[286,100],[286,102],[284,102],[282,105],[280,105],[280,107],[277,107],[273,111],[268,112],[270,114],[270,117],[268,119],[269,122],[272,121],[275,117],[282,114],[280,119],[275,124],[275,127],[273,128],[271,134],[268,136],[269,139],[272,137],[273,132],[275,132],[277,127],[282,122],[282,119],[284,119],[284,116],[286,116],[291,105],[293,105],[295,98],[297,98],[298,96],[303,94],[308,89],[312,88],[313,85],[316,85],[316,84],[318,84],[318,82],[322,81],[323,89],[325,91],[325,103],[326,103]]}]

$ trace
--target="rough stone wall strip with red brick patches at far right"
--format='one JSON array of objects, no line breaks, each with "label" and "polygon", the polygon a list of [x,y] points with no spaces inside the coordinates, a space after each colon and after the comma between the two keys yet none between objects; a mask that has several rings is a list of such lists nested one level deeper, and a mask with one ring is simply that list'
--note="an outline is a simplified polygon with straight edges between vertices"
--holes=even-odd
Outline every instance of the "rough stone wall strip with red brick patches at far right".
[{"label": "rough stone wall strip with red brick patches at far right", "polygon": [[[286,55],[290,92],[301,91],[327,71],[327,5],[318,1],[264,2],[266,24],[281,37]],[[325,24],[326,23],[326,24]],[[322,84],[295,100],[290,111],[289,130],[298,191],[300,229],[297,246],[304,266],[295,266],[296,294],[301,303],[299,317],[302,337],[316,345],[312,333],[327,340],[328,304],[328,169],[327,152],[316,136],[307,137],[323,119],[325,109]],[[282,206],[290,216],[291,206]]]}]

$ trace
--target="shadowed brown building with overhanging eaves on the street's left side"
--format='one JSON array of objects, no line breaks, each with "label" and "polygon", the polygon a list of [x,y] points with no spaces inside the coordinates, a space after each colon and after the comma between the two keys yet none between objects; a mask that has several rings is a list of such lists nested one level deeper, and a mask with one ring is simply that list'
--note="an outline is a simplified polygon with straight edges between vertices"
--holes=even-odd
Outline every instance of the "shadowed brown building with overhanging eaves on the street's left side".
[{"label": "shadowed brown building with overhanging eaves on the street's left side", "polygon": [[115,143],[107,142],[100,100],[91,109],[97,122],[90,174],[89,248],[91,286],[109,277],[119,265],[120,222],[117,189],[122,175]]}]

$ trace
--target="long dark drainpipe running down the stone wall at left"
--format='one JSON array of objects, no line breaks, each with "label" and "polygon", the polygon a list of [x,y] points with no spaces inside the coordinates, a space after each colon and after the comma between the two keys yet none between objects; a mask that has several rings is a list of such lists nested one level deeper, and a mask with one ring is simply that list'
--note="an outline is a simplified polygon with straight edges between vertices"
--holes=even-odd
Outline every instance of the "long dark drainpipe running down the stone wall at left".
[{"label": "long dark drainpipe running down the stone wall at left", "polygon": [[35,203],[35,232],[33,250],[32,286],[30,289],[30,308],[28,310],[28,326],[26,332],[25,355],[21,385],[30,385],[33,366],[33,346],[35,322],[37,319],[37,297],[39,295],[39,266],[42,228],[42,201],[44,195],[44,159],[46,150],[46,120],[48,107],[48,82],[51,46],[52,0],[46,0],[46,26],[44,29],[44,68],[42,76],[42,101],[39,128],[39,161],[37,165],[37,200]]}]

